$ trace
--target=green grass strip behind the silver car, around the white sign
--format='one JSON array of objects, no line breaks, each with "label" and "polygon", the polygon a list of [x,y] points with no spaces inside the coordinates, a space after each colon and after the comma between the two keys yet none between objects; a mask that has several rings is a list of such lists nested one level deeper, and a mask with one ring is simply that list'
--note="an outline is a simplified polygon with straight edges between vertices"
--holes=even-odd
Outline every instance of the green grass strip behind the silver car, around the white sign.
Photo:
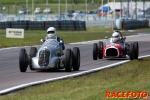
[{"label": "green grass strip behind the silver car, around the white sign", "polygon": [[[106,34],[100,34],[98,32],[106,30],[110,29],[103,27],[95,27],[87,28],[87,31],[57,31],[57,36],[61,37],[64,40],[65,44],[67,44],[72,42],[104,39]],[[47,35],[46,30],[25,30],[25,37],[23,39],[6,38],[5,34],[5,30],[0,30],[0,48],[40,45],[40,39],[44,39]],[[107,35],[111,36],[111,34]]]}]

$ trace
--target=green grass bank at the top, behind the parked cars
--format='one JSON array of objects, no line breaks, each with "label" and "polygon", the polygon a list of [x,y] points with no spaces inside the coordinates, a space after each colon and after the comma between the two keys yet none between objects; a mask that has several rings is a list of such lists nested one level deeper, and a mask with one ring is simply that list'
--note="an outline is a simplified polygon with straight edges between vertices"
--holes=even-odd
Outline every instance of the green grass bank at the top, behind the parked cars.
[{"label": "green grass bank at the top, behind the parked cars", "polygon": [[[85,0],[78,0],[78,4],[75,5],[73,0],[68,0],[68,10],[82,10],[85,11]],[[66,0],[60,0],[61,13],[64,13],[66,10],[65,5]],[[87,1],[88,4],[91,3],[91,0]],[[104,1],[106,3],[106,1]],[[18,4],[17,7],[14,7],[15,4]],[[5,10],[2,10],[0,13],[4,14],[18,14],[19,9],[26,8],[26,0],[0,0],[0,6],[6,7]],[[95,0],[95,5],[88,5],[88,10],[96,10],[101,5],[99,0]],[[46,5],[46,0],[34,0],[34,10],[36,7],[40,7],[43,11],[46,7],[49,7],[53,10],[54,14],[58,13],[58,0],[48,0],[48,5]],[[28,0],[28,9],[32,12],[32,0]]]}]

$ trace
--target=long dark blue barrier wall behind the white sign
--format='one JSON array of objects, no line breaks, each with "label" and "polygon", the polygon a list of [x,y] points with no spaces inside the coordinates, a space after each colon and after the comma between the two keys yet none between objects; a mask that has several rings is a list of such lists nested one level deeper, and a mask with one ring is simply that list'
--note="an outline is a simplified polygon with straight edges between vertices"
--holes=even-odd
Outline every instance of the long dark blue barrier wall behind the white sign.
[{"label": "long dark blue barrier wall behind the white sign", "polygon": [[0,22],[0,29],[23,28],[25,30],[45,30],[55,27],[57,30],[86,30],[85,21],[12,21]]}]

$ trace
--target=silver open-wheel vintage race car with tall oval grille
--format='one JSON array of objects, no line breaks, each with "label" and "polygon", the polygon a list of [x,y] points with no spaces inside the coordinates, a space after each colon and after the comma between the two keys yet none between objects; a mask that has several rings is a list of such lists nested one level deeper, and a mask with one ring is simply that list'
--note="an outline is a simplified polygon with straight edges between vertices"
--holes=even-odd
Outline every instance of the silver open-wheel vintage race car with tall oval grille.
[{"label": "silver open-wheel vintage race car with tall oval grille", "polygon": [[27,67],[31,70],[64,69],[71,72],[72,68],[78,71],[80,68],[80,50],[74,47],[73,50],[66,49],[63,53],[61,43],[56,39],[47,39],[37,50],[31,47],[29,55],[26,49],[22,48],[19,54],[19,68],[26,72]]}]

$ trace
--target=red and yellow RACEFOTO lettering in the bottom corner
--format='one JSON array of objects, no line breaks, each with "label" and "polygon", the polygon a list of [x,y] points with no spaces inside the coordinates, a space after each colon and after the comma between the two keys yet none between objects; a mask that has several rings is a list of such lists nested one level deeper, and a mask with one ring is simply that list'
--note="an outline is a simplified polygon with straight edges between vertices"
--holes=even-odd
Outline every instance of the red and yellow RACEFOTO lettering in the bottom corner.
[{"label": "red and yellow RACEFOTO lettering in the bottom corner", "polygon": [[142,91],[138,91],[138,92],[106,92],[106,98],[141,98],[141,99],[145,99],[148,98],[148,92],[142,92]]}]

